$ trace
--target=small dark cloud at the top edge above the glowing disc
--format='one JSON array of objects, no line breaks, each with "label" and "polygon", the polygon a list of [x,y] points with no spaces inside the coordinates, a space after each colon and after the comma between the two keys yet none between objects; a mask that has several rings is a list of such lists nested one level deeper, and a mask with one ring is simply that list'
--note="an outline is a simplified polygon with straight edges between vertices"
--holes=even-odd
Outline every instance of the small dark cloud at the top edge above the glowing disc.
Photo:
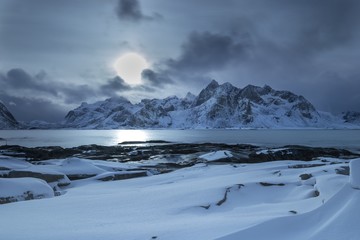
[{"label": "small dark cloud at the top edge above the glowing disc", "polygon": [[119,0],[115,12],[120,20],[125,21],[139,22],[162,18],[158,13],[154,13],[153,16],[144,15],[138,0]]}]

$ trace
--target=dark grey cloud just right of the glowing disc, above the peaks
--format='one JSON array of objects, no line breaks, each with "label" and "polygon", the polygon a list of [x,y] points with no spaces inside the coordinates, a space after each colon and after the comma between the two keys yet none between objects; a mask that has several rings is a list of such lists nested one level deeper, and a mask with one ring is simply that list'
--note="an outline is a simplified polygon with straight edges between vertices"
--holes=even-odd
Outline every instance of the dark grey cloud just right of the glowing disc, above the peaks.
[{"label": "dark grey cloud just right of the glowing disc, above the peaks", "polygon": [[158,69],[144,70],[142,79],[156,87],[176,82],[203,87],[211,78],[211,72],[240,64],[248,58],[251,49],[250,39],[242,35],[192,32],[182,44],[178,58],[167,59]]}]

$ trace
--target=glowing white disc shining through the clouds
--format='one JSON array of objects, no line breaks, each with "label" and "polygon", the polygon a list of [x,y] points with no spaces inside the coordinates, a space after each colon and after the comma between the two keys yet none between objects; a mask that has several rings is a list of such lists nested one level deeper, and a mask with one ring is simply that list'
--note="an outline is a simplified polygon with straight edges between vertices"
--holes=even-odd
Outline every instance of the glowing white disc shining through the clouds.
[{"label": "glowing white disc shining through the clouds", "polygon": [[130,85],[142,83],[141,72],[149,68],[149,63],[138,53],[126,53],[120,56],[114,64],[115,71],[124,81]]}]

